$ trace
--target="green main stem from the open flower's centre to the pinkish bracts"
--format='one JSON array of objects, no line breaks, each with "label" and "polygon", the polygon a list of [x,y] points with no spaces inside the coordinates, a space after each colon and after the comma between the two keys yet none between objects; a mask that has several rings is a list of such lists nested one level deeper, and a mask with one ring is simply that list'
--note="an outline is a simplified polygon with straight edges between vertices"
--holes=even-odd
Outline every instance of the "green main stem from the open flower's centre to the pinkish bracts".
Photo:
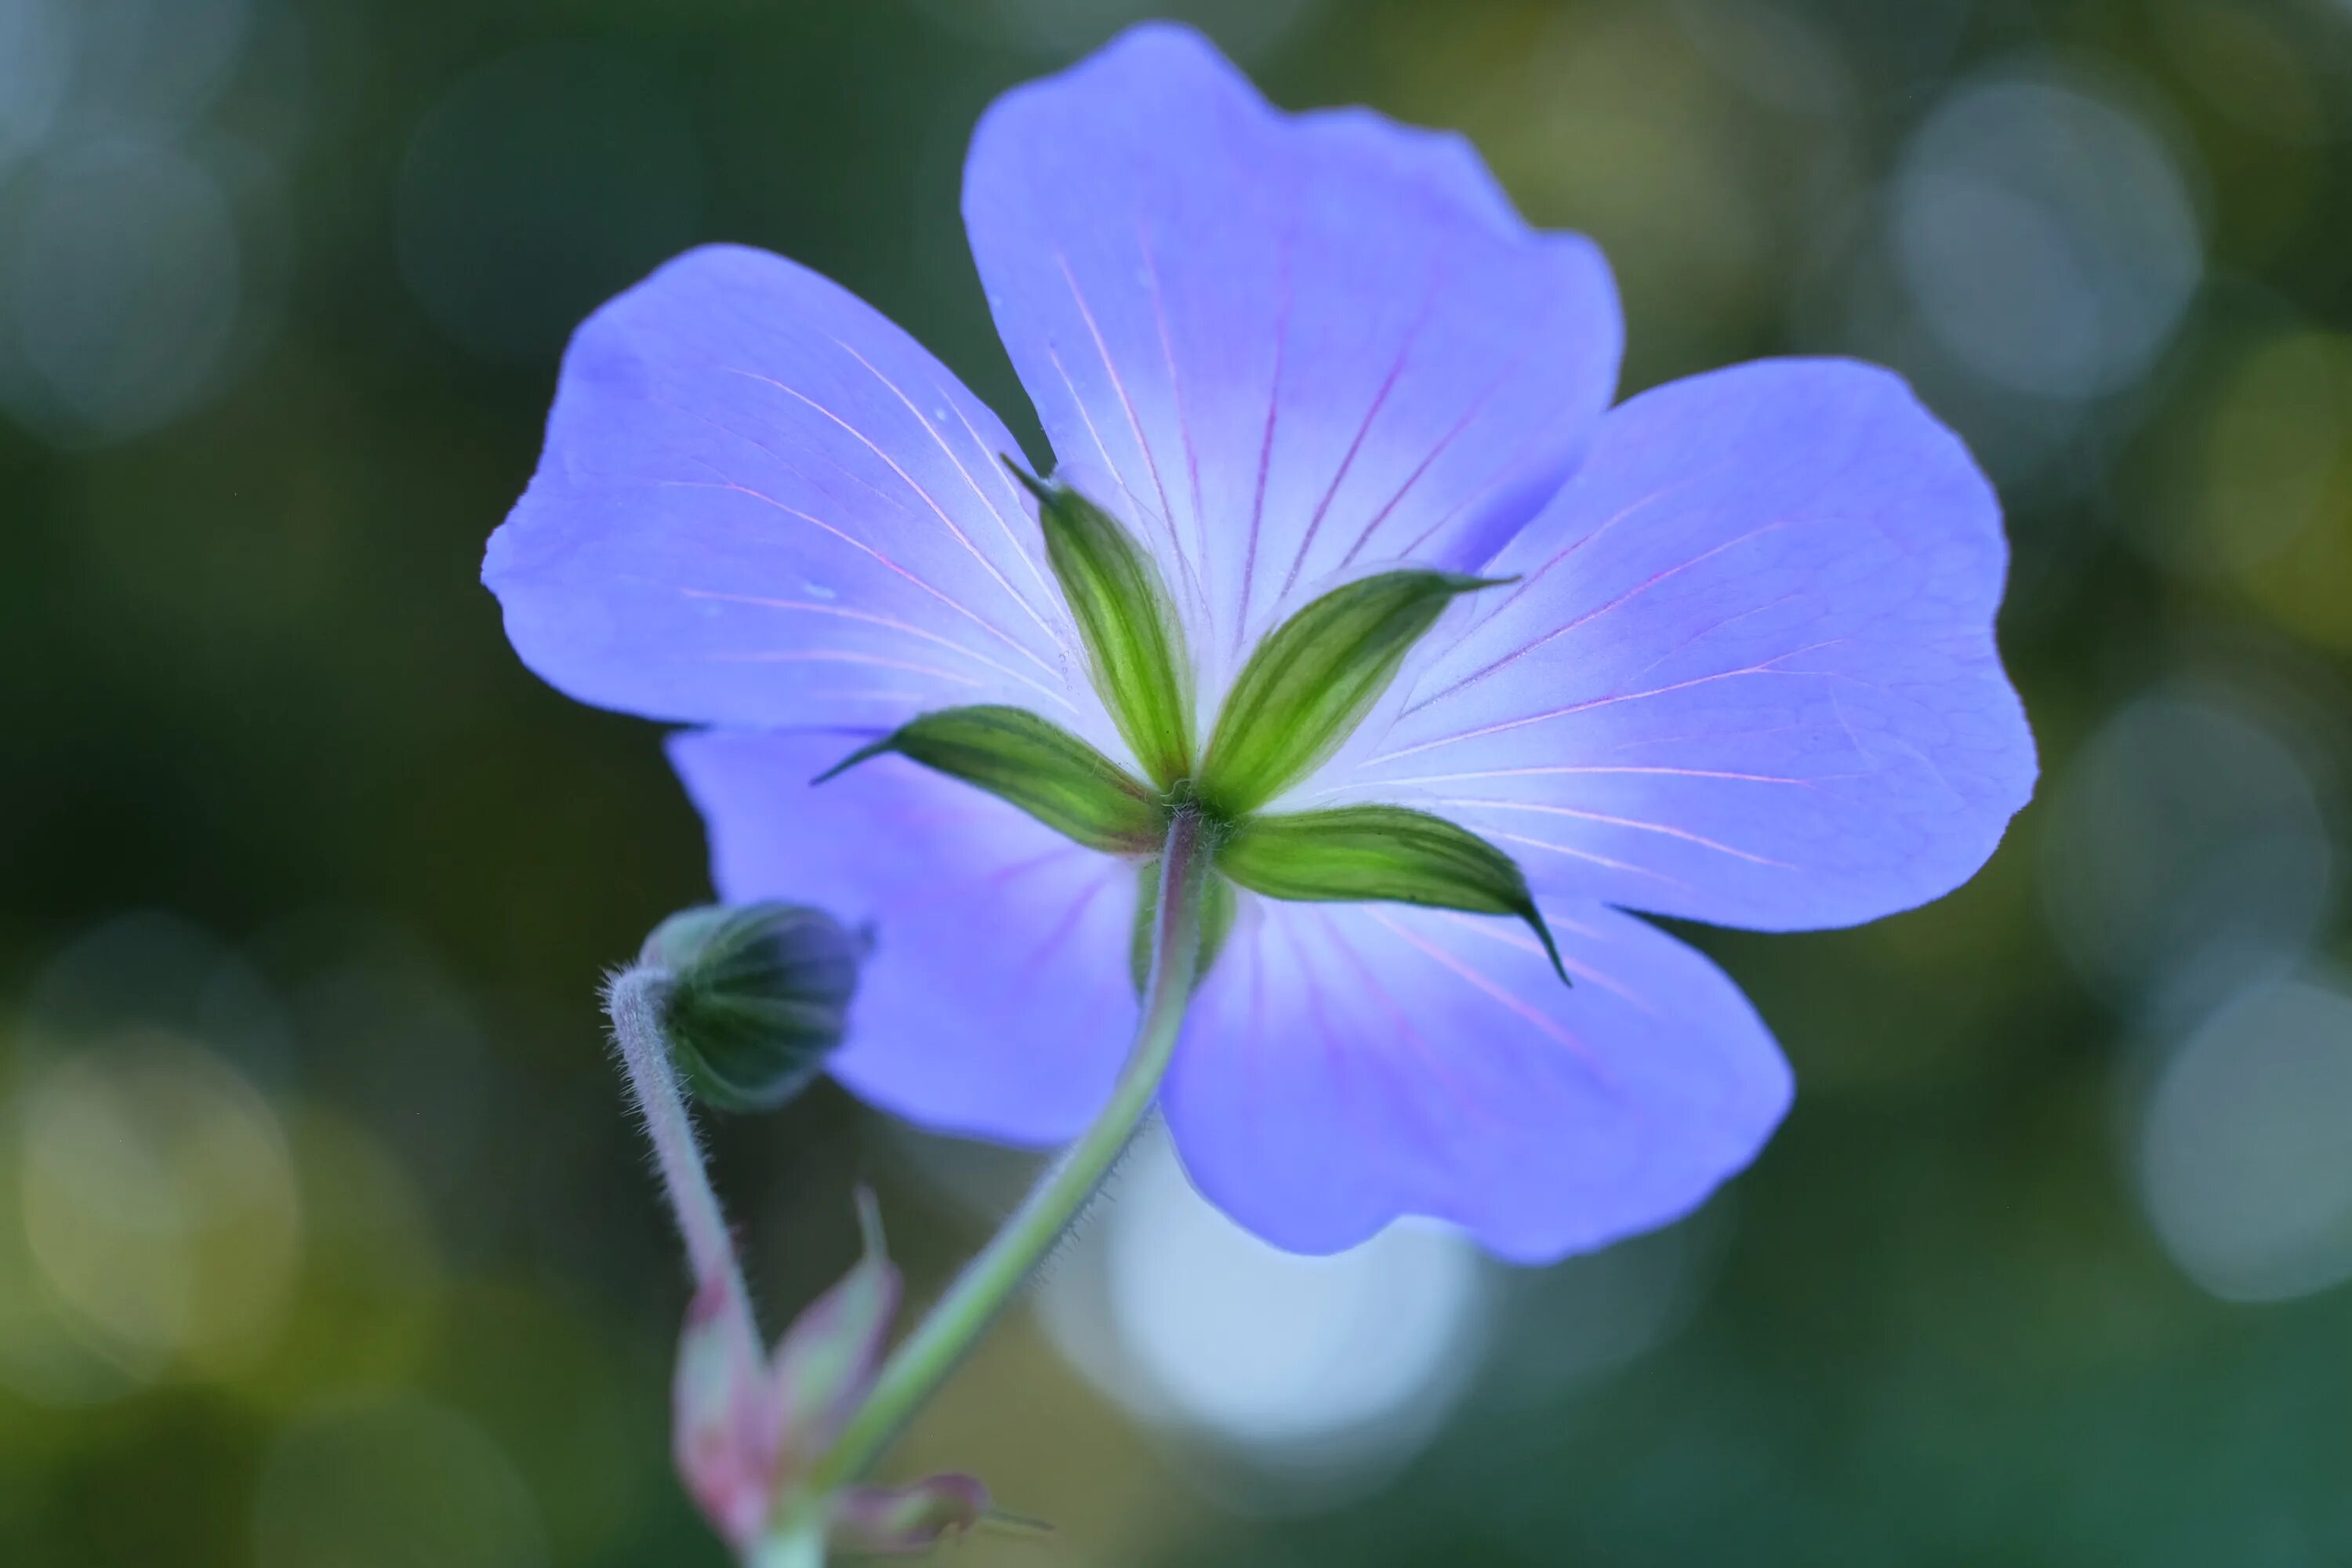
[{"label": "green main stem from the open flower's centre to the pinkish bracts", "polygon": [[1110,1105],[882,1366],[873,1394],[818,1460],[816,1490],[854,1481],[898,1436],[981,1333],[1004,1312],[1030,1272],[1054,1251],[1054,1244],[1077,1222],[1120,1154],[1134,1143],[1160,1095],[1160,1079],[1167,1077],[1185,1004],[1192,999],[1192,978],[1200,973],[1200,912],[1209,884],[1204,839],[1207,823],[1190,806],[1169,823],[1167,851],[1160,860],[1160,919],[1150,980],[1143,987],[1143,1016],[1136,1023],[1127,1067],[1110,1091]]}]

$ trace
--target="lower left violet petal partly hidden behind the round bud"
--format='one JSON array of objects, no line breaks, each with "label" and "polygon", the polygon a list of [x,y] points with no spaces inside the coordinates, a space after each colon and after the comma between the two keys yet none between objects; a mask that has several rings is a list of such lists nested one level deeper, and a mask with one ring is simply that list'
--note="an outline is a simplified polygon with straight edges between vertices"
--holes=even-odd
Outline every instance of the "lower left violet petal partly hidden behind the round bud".
[{"label": "lower left violet petal partly hidden behind the round bud", "polygon": [[1110,1095],[1136,1020],[1136,872],[903,757],[809,788],[840,736],[675,736],[724,898],[790,893],[873,924],[830,1070],[913,1121],[1070,1138]]}]

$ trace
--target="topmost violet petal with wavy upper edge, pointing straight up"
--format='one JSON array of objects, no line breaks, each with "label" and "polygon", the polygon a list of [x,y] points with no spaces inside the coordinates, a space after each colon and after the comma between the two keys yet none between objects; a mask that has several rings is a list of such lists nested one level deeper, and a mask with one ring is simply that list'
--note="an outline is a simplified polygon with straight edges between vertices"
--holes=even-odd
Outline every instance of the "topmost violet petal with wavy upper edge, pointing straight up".
[{"label": "topmost violet petal with wavy upper edge, pointing straight up", "polygon": [[981,120],[964,226],[1065,473],[1101,473],[1195,621],[1204,698],[1374,562],[1475,567],[1616,383],[1599,252],[1451,136],[1282,115],[1138,26]]}]

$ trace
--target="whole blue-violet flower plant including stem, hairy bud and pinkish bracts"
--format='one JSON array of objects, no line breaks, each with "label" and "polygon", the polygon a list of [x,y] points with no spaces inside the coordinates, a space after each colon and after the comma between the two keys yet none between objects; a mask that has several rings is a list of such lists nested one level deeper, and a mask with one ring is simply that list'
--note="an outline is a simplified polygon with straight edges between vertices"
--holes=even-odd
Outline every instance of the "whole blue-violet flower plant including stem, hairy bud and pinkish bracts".
[{"label": "whole blue-violet flower plant including stem, hairy bud and pinkish bracts", "polygon": [[[741,907],[609,1001],[699,1279],[680,1465],[779,1568],[990,1519],[858,1476],[1152,1112],[1294,1251],[1663,1225],[1792,1084],[1639,914],[1877,919],[2034,783],[1957,437],[1837,360],[1611,407],[1606,263],[1461,139],[1152,24],[988,110],[964,223],[1051,482],[863,301],[708,247],[581,327],[485,562],[532,668],[691,726]],[[873,1227],[762,1356],[673,1056],[1068,1147],[887,1359]]]}]

